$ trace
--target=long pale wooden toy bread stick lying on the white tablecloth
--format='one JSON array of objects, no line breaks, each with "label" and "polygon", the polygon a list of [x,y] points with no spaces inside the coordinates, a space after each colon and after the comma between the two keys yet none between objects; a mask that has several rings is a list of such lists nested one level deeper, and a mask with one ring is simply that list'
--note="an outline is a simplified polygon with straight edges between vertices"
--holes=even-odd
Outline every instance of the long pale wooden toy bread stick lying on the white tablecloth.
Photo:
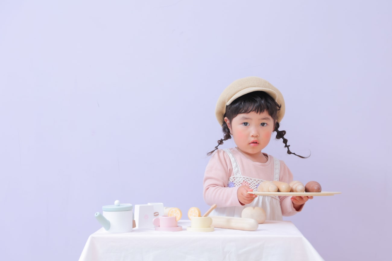
[{"label": "long pale wooden toy bread stick lying on the white tablecloth", "polygon": [[253,231],[258,229],[259,224],[252,218],[234,218],[226,216],[210,216],[212,218],[212,227],[222,229],[239,229]]}]

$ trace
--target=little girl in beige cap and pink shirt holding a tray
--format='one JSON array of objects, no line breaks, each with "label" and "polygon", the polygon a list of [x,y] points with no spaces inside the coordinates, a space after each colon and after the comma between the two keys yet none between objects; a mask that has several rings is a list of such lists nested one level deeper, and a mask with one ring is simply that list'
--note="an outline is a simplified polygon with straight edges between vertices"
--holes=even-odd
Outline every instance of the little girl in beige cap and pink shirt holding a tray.
[{"label": "little girl in beige cap and pink shirt holding a tray", "polygon": [[[231,83],[220,95],[215,110],[222,126],[224,140],[233,137],[236,148],[218,149],[205,169],[203,196],[207,204],[216,204],[215,216],[241,217],[245,207],[262,207],[267,220],[282,220],[301,211],[307,196],[256,196],[264,180],[290,183],[293,176],[286,164],[262,150],[268,145],[272,132],[283,139],[288,154],[294,154],[287,145],[286,131],[278,130],[285,114],[282,94],[268,81],[259,77],[245,77]],[[296,155],[304,158],[302,156]]]}]

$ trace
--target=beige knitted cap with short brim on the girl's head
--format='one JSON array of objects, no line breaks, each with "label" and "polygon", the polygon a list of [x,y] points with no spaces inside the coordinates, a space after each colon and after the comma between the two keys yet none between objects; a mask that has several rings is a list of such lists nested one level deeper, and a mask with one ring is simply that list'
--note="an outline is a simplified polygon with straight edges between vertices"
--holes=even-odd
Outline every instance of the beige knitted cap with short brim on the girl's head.
[{"label": "beige knitted cap with short brim on the girl's head", "polygon": [[263,91],[269,94],[275,101],[281,105],[278,111],[278,122],[283,119],[285,115],[285,100],[283,95],[277,88],[270,84],[265,79],[256,76],[250,76],[241,78],[233,81],[219,96],[218,102],[216,103],[215,115],[218,119],[219,124],[222,126],[226,112],[226,106],[232,103],[238,97],[249,92]]}]

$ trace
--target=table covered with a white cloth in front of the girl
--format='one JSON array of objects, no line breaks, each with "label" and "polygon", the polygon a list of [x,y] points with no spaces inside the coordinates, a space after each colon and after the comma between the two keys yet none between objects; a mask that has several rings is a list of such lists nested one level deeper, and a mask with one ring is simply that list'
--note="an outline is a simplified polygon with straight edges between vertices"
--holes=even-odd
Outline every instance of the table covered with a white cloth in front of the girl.
[{"label": "table covered with a white cloth in front of the girl", "polygon": [[136,228],[111,234],[99,229],[87,239],[79,261],[323,260],[291,221],[265,221],[254,231],[189,232],[190,220],[178,225],[180,232]]}]

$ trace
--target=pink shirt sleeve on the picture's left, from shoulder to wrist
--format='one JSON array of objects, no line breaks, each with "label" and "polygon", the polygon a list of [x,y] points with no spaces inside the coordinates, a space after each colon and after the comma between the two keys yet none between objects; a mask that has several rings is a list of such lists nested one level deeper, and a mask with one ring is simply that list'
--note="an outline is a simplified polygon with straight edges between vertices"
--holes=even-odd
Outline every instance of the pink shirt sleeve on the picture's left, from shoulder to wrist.
[{"label": "pink shirt sleeve on the picture's left, from shoulder to wrist", "polygon": [[232,166],[229,155],[221,149],[211,156],[203,179],[203,198],[208,205],[217,207],[240,206],[238,187],[228,187]]}]

